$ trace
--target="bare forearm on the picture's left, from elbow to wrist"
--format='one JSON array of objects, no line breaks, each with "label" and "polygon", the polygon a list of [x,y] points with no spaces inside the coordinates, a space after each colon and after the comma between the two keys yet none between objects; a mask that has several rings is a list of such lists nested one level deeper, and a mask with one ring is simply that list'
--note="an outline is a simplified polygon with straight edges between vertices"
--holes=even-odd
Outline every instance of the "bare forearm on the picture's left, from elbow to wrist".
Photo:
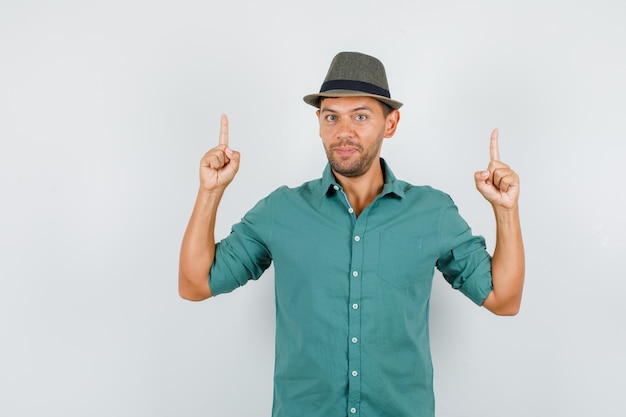
[{"label": "bare forearm on the picture's left, from elbow to wrist", "polygon": [[215,256],[215,220],[223,190],[200,190],[183,237],[178,272],[182,298],[200,301],[211,297],[209,272]]}]

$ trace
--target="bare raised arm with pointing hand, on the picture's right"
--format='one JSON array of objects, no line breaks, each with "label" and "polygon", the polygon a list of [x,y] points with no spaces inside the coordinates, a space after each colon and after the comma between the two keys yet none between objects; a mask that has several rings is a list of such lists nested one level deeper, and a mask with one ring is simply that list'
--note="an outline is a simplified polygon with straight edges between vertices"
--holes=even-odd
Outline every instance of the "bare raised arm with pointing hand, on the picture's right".
[{"label": "bare raised arm with pointing hand, on the picture's right", "polygon": [[519,177],[500,161],[498,129],[490,141],[487,170],[475,174],[476,188],[489,201],[496,217],[496,247],[491,261],[493,290],[483,306],[498,315],[515,315],[524,287],[524,244],[519,217]]}]

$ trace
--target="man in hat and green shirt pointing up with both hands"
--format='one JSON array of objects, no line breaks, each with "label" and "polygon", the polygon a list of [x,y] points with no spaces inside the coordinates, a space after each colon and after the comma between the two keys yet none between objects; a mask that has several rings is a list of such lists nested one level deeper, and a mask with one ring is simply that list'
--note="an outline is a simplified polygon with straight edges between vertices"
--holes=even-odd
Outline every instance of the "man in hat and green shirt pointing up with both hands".
[{"label": "man in hat and green shirt pointing up with both hands", "polygon": [[219,145],[204,155],[183,239],[179,292],[203,300],[257,279],[274,262],[274,417],[434,416],[428,309],[434,268],[473,302],[519,310],[524,251],[517,174],[491,160],[475,174],[497,224],[493,257],[452,200],[395,178],[380,158],[400,102],[376,58],[333,60],[318,108],[328,165],[322,178],[281,187],[232,233],[214,239],[217,207],[239,168],[222,116]]}]

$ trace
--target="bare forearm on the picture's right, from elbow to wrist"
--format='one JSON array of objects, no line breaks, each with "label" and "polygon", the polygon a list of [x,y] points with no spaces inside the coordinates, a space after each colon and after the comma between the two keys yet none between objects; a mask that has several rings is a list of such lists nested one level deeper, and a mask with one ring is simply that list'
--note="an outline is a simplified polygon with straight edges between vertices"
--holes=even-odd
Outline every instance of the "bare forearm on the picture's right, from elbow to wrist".
[{"label": "bare forearm on the picture's right, from elbow to wrist", "polygon": [[491,261],[493,291],[484,306],[500,315],[519,311],[524,287],[524,244],[519,209],[494,208],[496,247]]}]

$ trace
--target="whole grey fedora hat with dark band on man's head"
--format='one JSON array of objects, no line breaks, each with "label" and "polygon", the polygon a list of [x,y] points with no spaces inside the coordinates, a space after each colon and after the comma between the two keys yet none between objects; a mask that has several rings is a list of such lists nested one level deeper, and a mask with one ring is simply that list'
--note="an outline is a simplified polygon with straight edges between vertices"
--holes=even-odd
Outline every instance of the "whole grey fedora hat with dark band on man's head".
[{"label": "whole grey fedora hat with dark band on man's head", "polygon": [[340,52],[330,64],[324,83],[317,94],[304,96],[311,106],[320,107],[323,97],[372,97],[399,109],[402,103],[391,99],[383,63],[359,52]]}]

